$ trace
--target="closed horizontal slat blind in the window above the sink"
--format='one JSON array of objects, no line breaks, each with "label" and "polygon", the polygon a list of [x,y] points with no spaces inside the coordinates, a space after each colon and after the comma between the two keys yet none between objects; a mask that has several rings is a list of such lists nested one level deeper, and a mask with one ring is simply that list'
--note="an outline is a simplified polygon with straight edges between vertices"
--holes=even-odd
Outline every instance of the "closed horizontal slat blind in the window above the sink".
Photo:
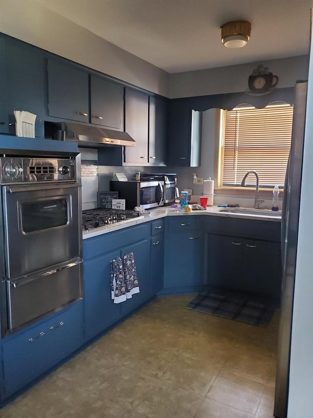
[{"label": "closed horizontal slat blind in the window above the sink", "polygon": [[[284,186],[292,112],[289,104],[225,111],[223,186],[240,186],[249,170],[258,172],[261,187]],[[255,176],[246,185],[255,185]]]}]

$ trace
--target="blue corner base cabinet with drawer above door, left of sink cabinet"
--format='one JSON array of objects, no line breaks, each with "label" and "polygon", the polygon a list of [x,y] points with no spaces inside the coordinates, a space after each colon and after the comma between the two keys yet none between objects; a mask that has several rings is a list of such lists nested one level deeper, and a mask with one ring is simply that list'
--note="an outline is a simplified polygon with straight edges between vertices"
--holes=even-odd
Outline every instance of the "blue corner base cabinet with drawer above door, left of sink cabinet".
[{"label": "blue corner base cabinet with drawer above door, left of sink cabinet", "polygon": [[202,218],[187,215],[167,219],[164,293],[189,292],[203,285]]}]

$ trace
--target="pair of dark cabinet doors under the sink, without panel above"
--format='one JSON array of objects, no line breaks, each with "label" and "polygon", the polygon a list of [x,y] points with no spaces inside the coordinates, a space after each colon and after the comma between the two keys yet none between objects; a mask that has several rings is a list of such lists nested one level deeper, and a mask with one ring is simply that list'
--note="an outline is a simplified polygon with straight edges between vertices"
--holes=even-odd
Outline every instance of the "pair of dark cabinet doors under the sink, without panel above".
[{"label": "pair of dark cabinet doors under the sink, without panel above", "polygon": [[280,265],[279,243],[209,234],[209,284],[277,298]]}]

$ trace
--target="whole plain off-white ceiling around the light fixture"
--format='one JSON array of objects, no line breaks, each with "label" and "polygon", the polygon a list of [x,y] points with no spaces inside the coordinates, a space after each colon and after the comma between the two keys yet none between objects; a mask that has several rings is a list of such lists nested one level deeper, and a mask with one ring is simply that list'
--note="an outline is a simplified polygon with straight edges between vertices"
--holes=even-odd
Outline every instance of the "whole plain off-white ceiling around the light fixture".
[{"label": "whole plain off-white ceiling around the light fixture", "polygon": [[[169,73],[309,53],[312,0],[39,0],[46,7]],[[227,49],[220,26],[251,23]]]}]

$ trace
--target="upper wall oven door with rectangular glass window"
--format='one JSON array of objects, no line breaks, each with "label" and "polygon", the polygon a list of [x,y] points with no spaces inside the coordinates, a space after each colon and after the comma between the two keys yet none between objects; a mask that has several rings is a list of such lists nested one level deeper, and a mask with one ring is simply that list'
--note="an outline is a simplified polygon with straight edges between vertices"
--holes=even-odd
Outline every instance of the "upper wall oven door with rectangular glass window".
[{"label": "upper wall oven door with rectangular glass window", "polygon": [[80,254],[78,183],[3,186],[6,278]]}]

